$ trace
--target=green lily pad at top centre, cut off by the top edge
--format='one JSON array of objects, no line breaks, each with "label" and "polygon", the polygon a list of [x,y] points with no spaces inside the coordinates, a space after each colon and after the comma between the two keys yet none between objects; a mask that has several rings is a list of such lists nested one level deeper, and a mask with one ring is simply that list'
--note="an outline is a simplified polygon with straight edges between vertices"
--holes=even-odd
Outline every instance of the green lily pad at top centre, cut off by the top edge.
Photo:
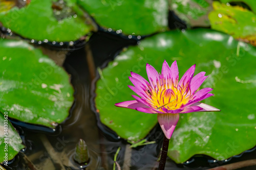
[{"label": "green lily pad at top centre, cut off by the top edge", "polygon": [[96,22],[123,34],[148,35],[167,28],[167,0],[77,0]]}]

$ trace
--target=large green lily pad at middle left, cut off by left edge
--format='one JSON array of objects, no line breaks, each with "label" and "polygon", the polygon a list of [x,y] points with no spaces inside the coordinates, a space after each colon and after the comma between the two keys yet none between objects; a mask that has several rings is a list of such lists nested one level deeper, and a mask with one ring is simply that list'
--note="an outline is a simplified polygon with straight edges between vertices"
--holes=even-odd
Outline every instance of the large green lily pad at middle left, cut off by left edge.
[{"label": "large green lily pad at middle left, cut off by left edge", "polygon": [[25,41],[0,39],[0,112],[55,127],[69,115],[73,88],[66,71]]}]

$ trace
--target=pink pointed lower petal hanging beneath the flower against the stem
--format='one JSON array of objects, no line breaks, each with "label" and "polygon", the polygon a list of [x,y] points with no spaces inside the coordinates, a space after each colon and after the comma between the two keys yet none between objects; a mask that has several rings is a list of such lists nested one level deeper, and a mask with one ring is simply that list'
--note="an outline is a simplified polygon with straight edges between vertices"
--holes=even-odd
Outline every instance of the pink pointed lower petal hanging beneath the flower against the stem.
[{"label": "pink pointed lower petal hanging beneath the flower against the stem", "polygon": [[179,113],[157,114],[158,123],[167,139],[170,139],[179,120]]}]

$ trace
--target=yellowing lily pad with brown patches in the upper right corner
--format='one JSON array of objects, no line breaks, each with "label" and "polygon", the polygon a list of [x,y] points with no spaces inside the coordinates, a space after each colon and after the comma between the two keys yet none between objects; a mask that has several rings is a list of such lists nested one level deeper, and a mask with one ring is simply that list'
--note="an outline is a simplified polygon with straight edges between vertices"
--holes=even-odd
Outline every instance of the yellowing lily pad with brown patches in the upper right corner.
[{"label": "yellowing lily pad with brown patches in the upper right corner", "polygon": [[239,6],[214,2],[209,13],[211,28],[232,35],[236,39],[256,45],[256,15]]}]

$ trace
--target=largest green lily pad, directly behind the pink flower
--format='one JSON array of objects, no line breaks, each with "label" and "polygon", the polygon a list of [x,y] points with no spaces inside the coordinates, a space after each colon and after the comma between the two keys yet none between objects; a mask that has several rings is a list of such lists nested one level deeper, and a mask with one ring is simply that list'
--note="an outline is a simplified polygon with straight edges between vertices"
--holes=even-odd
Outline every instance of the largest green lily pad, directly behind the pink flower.
[{"label": "largest green lily pad, directly behind the pink flower", "polygon": [[215,94],[202,102],[222,111],[180,114],[168,156],[180,163],[195,154],[218,160],[240,154],[256,144],[256,107],[252,100],[256,93],[255,56],[253,46],[207,29],[146,38],[102,70],[103,78],[96,89],[101,122],[125,139],[142,139],[156,124],[156,114],[114,106],[133,100],[131,94],[135,93],[126,86],[132,85],[130,71],[147,79],[145,62],[160,71],[164,60],[169,65],[177,60],[181,78],[196,63],[195,74],[206,71],[208,75],[201,88],[212,87]]}]

